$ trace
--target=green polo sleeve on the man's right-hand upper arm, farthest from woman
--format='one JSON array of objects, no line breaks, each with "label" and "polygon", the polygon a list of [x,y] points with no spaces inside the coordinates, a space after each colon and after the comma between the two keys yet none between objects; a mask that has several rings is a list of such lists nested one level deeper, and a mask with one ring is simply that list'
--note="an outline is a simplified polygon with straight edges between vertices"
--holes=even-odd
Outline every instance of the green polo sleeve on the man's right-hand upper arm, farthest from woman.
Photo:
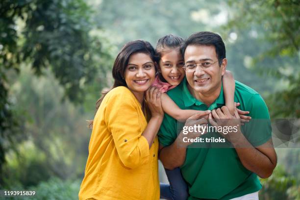
[{"label": "green polo sleeve on the man's right-hand upper arm, farthest from woman", "polygon": [[251,97],[248,108],[251,120],[244,126],[244,135],[254,146],[266,143],[272,137],[272,126],[268,107],[259,94]]}]

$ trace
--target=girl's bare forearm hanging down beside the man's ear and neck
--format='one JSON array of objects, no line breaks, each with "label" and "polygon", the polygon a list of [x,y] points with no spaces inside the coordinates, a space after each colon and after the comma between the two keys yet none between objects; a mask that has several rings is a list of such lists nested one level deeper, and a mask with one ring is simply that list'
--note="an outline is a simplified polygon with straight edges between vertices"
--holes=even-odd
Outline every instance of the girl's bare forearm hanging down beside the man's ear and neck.
[{"label": "girl's bare forearm hanging down beside the man's ear and neck", "polygon": [[233,115],[234,113],[234,91],[235,91],[235,82],[231,72],[226,70],[223,75],[223,90],[225,96],[225,105],[228,108],[229,112]]}]

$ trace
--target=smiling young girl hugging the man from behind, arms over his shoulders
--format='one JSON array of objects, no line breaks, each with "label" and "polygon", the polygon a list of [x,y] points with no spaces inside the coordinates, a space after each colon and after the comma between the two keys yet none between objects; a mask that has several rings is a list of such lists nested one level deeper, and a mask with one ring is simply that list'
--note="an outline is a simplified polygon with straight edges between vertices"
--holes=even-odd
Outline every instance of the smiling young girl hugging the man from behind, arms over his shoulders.
[{"label": "smiling young girl hugging the man from behind, arms over his shoulders", "polygon": [[[174,35],[166,35],[157,42],[155,50],[159,56],[159,67],[158,75],[155,77],[153,85],[162,93],[176,87],[185,76],[185,71],[183,69],[184,60],[179,51],[182,42],[183,39],[181,37]],[[235,82],[233,76],[229,71],[226,71],[223,76],[223,89],[225,93],[225,105],[228,107],[231,114],[234,112],[234,88]],[[162,94],[161,99],[164,112],[175,118],[177,121],[185,121],[192,115],[201,112],[202,116],[207,118],[210,113],[209,110],[181,110],[166,94]],[[247,122],[250,119],[248,116],[244,116],[248,113],[249,112],[239,111],[242,119],[245,119],[244,122]],[[165,171],[170,185],[164,183],[160,184],[160,197],[167,200],[187,199],[188,188],[181,176],[180,169],[165,169]]]}]

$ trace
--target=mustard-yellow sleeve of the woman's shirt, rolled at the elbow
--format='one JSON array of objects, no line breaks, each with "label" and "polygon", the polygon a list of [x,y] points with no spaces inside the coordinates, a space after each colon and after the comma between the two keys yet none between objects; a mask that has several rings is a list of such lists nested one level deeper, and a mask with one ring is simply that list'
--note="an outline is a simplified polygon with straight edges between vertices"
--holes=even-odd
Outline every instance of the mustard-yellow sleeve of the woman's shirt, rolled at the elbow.
[{"label": "mustard-yellow sleeve of the woman's shirt, rolled at the elbow", "polygon": [[107,102],[105,123],[125,167],[134,169],[149,160],[149,144],[142,136],[138,107],[132,95],[113,95]]}]

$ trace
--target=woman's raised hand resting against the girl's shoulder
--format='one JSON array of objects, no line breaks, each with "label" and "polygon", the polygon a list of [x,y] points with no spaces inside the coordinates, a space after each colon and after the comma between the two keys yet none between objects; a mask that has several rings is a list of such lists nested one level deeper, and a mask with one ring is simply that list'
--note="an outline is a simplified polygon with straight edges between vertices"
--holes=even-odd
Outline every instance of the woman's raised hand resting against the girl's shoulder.
[{"label": "woman's raised hand resting against the girl's shoulder", "polygon": [[146,91],[146,103],[151,111],[152,117],[163,117],[164,111],[161,107],[161,92],[155,87],[151,86]]}]

